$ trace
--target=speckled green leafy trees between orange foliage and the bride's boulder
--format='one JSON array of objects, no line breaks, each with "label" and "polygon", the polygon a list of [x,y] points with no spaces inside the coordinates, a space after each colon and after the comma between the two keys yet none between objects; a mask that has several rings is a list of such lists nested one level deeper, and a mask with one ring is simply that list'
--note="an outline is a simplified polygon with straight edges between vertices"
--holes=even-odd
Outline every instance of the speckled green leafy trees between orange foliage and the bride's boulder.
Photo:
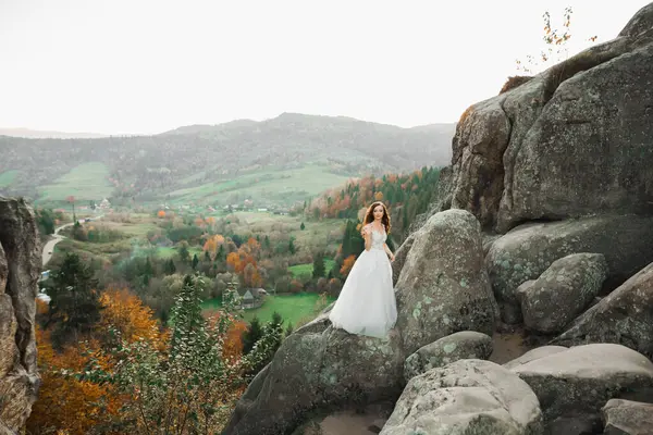
[{"label": "speckled green leafy trees between orange foliage and the bride's boulder", "polygon": [[220,433],[243,390],[241,362],[225,361],[230,312],[214,322],[201,314],[201,278],[185,276],[171,315],[171,337],[163,350],[148,340],[121,340],[111,350],[120,359],[113,372],[90,364],[82,378],[109,383],[126,397],[121,433]]}]

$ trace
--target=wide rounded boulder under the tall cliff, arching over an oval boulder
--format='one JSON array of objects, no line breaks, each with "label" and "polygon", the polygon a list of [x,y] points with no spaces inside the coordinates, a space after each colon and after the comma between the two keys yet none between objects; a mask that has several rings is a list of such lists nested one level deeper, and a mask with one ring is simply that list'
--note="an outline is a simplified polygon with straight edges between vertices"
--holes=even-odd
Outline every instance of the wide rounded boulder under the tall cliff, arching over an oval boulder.
[{"label": "wide rounded boulder under the tall cliff, arching over an oval boulder", "polygon": [[518,323],[516,289],[551,264],[578,252],[605,256],[613,289],[653,261],[653,217],[602,215],[520,225],[496,239],[485,257],[494,295],[506,323]]}]

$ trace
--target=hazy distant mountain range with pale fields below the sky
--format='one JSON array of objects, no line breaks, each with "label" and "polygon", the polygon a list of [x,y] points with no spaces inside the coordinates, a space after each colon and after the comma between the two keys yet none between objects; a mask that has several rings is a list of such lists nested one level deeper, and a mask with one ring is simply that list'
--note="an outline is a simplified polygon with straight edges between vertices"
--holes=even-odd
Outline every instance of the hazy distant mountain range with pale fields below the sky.
[{"label": "hazy distant mountain range with pale fields below the sky", "polygon": [[350,177],[446,165],[455,126],[402,128],[283,113],[150,136],[35,138],[38,132],[23,132],[33,137],[0,136],[0,194],[36,202],[75,196],[192,203],[255,197],[259,203],[288,203]]}]

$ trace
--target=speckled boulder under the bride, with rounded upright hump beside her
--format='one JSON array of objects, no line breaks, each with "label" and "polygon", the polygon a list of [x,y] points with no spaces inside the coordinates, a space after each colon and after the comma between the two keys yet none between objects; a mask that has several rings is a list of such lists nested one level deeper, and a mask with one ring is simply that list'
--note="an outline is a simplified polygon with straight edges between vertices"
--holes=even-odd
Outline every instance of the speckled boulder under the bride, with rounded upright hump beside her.
[{"label": "speckled boulder under the bride, with rounded upright hump beside her", "polygon": [[397,326],[386,339],[334,330],[329,309],[287,337],[224,434],[284,434],[317,413],[394,401],[407,355],[459,331],[492,335],[497,308],[471,213],[439,213],[416,233],[396,295]]}]

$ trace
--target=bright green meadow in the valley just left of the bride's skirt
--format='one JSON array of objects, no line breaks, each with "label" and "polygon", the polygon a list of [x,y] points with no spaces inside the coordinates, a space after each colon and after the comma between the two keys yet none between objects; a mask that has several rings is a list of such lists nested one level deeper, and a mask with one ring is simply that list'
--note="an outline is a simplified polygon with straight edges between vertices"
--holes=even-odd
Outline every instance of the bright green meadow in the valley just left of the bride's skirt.
[{"label": "bright green meadow in the valley just left of the bride's skirt", "polygon": [[[260,308],[247,310],[243,313],[243,320],[247,323],[255,316],[259,318],[261,323],[272,320],[272,314],[276,311],[283,318],[284,326],[291,323],[296,326],[299,321],[306,322],[318,315],[317,302],[319,295],[310,293],[301,293],[298,295],[269,295]],[[328,298],[328,303],[331,303],[335,298]],[[211,299],[202,303],[205,310],[210,310],[219,307],[220,302]]]}]

